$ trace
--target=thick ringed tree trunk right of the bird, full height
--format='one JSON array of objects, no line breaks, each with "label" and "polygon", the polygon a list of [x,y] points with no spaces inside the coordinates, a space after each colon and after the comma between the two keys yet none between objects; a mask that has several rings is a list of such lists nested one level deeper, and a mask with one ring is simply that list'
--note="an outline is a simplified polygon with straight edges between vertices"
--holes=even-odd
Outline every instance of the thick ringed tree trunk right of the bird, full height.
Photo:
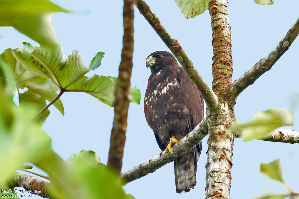
[{"label": "thick ringed tree trunk right of the bird, full height", "polygon": [[219,104],[207,110],[208,161],[206,164],[206,198],[231,198],[231,167],[234,135],[229,128],[234,119],[234,102],[227,95],[231,85],[231,27],[228,21],[228,1],[210,0],[209,12],[213,31],[212,89]]}]

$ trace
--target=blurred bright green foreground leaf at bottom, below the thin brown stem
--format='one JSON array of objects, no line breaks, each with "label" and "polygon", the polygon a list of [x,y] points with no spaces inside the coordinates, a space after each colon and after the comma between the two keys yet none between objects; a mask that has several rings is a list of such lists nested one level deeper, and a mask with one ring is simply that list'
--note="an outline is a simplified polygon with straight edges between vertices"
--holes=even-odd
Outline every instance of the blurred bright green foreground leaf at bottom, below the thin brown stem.
[{"label": "blurred bright green foreground leaf at bottom, below the thin brown stem", "polygon": [[[69,158],[71,164],[65,172],[56,165],[51,180],[51,188],[58,198],[97,199],[97,198],[128,198],[121,187],[122,179],[111,168],[96,160],[92,151],[81,151]],[[51,176],[51,179],[52,179]],[[57,192],[62,190],[62,192]]]}]

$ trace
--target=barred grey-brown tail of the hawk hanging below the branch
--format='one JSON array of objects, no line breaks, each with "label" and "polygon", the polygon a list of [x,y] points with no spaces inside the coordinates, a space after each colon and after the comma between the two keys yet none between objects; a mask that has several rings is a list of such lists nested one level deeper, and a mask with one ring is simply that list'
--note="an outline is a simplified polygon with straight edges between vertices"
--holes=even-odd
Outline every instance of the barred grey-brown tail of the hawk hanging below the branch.
[{"label": "barred grey-brown tail of the hawk hanging below the branch", "polygon": [[176,192],[189,192],[196,185],[196,170],[193,150],[180,156],[174,161],[174,175],[176,179]]}]

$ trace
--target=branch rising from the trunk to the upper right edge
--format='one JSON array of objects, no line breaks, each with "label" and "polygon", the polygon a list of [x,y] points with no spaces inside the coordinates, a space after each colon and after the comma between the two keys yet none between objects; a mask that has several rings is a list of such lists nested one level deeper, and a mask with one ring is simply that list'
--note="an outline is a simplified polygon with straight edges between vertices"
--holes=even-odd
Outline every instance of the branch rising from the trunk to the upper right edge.
[{"label": "branch rising from the trunk to the upper right edge", "polygon": [[241,77],[234,81],[229,89],[230,95],[234,101],[236,101],[238,95],[245,90],[245,88],[253,84],[257,78],[271,69],[271,67],[283,55],[283,53],[289,49],[295,38],[298,36],[298,33],[299,18],[286,33],[286,36],[278,43],[277,47],[272,50],[268,56],[262,58],[259,62],[254,64],[251,69],[246,71]]}]

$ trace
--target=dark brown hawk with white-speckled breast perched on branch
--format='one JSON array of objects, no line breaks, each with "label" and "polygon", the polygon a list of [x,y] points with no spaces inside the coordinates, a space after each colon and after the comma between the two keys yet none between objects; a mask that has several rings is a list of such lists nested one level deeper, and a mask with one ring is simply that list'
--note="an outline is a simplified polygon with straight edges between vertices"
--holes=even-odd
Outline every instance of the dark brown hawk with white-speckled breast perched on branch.
[{"label": "dark brown hawk with white-speckled breast perched on branch", "polygon": [[[171,147],[203,119],[203,98],[176,59],[166,51],[147,57],[149,76],[144,97],[144,113],[161,150]],[[176,192],[189,192],[196,185],[202,142],[174,161]]]}]

